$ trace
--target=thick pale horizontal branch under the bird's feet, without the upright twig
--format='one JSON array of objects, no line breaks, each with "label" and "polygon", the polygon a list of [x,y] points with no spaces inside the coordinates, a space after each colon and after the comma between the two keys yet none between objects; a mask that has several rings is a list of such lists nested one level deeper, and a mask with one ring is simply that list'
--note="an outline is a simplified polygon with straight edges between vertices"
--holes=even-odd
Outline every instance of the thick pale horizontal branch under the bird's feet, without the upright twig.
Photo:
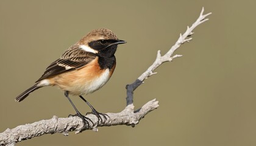
[{"label": "thick pale horizontal branch under the bird's feet, without the upright twig", "polygon": [[84,130],[98,131],[97,127],[113,125],[131,125],[134,127],[140,119],[158,106],[158,101],[155,99],[149,101],[135,112],[133,110],[134,106],[129,105],[120,113],[107,113],[107,120],[99,123],[97,123],[98,119],[94,114],[88,114],[86,117],[90,118],[94,123],[94,126],[93,123],[90,123],[88,128],[83,128],[84,123],[80,117],[59,118],[54,116],[49,120],[40,120],[38,122],[20,125],[13,129],[8,128],[3,133],[0,133],[0,145],[13,145],[15,142],[31,139],[35,136],[42,136],[43,134],[62,133],[68,136],[69,131],[76,131],[76,134]]}]

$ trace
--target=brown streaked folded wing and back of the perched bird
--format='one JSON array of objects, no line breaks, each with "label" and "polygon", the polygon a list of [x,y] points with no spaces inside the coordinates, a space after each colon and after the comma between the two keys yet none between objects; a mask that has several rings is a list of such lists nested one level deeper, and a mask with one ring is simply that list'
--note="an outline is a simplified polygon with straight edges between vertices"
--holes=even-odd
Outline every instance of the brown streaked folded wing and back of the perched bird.
[{"label": "brown streaked folded wing and back of the perched bird", "polygon": [[43,80],[54,75],[62,74],[63,72],[73,71],[74,69],[82,68],[83,66],[94,60],[96,55],[91,52],[86,52],[79,48],[79,46],[71,46],[62,56],[52,62],[44,74],[37,80]]}]

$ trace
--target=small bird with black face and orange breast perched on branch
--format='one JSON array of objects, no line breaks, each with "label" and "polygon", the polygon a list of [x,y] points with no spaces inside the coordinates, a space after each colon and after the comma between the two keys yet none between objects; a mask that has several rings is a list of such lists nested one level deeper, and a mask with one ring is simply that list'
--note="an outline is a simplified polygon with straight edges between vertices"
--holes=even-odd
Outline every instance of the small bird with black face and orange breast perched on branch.
[{"label": "small bird with black face and orange breast perched on branch", "polygon": [[77,110],[69,94],[84,100],[90,106],[91,113],[98,117],[98,122],[101,116],[106,119],[106,115],[96,111],[83,95],[97,91],[108,82],[116,67],[115,52],[118,44],[124,43],[126,41],[119,40],[109,29],[92,30],[66,49],[60,58],[46,68],[35,85],[17,96],[15,101],[21,102],[30,93],[44,86],[57,86],[64,91],[65,97],[75,109],[76,114],[72,116],[80,117],[84,125],[88,125],[91,120]]}]

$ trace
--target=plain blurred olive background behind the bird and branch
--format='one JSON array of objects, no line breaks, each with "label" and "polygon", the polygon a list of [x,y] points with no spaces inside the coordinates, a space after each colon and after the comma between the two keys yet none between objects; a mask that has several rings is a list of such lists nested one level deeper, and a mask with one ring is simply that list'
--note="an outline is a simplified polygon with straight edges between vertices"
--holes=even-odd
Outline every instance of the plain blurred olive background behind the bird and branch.
[{"label": "plain blurred olive background behind the bird and branch", "polygon": [[[108,28],[126,40],[107,85],[86,96],[100,112],[126,106],[132,83],[196,21],[202,7],[210,21],[193,40],[135,91],[140,108],[160,107],[135,128],[99,127],[80,134],[48,134],[17,145],[256,145],[255,1],[0,1],[0,132],[25,123],[67,117],[75,111],[63,92],[41,88],[21,103],[65,49],[93,29]],[[82,113],[90,111],[71,97]]]}]

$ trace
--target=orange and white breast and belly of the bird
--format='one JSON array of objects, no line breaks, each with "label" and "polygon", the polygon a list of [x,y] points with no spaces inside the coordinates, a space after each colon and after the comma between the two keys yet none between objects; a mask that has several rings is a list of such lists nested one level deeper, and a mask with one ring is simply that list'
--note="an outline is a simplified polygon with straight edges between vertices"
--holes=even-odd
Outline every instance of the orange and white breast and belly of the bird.
[{"label": "orange and white breast and belly of the bird", "polygon": [[52,85],[59,86],[64,91],[73,95],[90,94],[105,85],[115,70],[101,69],[98,64],[98,57],[83,68],[66,72],[49,78]]}]

